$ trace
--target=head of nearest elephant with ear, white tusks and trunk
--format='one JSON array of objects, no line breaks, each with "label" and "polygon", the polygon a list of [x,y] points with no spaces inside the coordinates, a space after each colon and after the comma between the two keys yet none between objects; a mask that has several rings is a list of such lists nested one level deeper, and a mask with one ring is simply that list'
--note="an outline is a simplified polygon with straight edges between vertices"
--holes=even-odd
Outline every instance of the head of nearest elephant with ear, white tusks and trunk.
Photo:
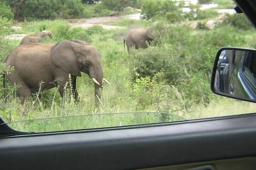
[{"label": "head of nearest elephant with ear, white tusks and trunk", "polygon": [[51,59],[57,67],[68,74],[81,76],[80,71],[86,73],[94,81],[95,99],[99,102],[103,71],[99,52],[94,46],[81,40],[64,40],[52,47]]}]

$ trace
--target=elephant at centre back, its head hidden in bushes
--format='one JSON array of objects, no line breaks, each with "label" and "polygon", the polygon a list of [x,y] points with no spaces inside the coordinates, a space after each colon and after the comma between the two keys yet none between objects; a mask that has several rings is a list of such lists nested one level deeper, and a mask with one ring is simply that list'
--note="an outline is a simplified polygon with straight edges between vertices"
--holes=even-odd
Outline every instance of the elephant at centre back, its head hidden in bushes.
[{"label": "elephant at centre back, its head hidden in bushes", "polygon": [[156,38],[156,36],[149,33],[150,29],[151,27],[139,27],[129,31],[124,38],[124,47],[126,43],[128,52],[132,47],[135,47],[135,49],[146,48],[146,41],[150,43]]}]

